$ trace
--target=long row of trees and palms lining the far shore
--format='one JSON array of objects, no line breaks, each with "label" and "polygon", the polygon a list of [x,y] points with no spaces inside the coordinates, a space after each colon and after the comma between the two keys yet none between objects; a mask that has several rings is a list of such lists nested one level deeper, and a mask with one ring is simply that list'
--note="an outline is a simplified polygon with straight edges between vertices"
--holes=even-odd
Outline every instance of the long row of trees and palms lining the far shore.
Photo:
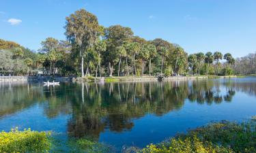
[{"label": "long row of trees and palms lining the far shore", "polygon": [[49,74],[78,77],[255,73],[250,67],[255,54],[237,60],[228,52],[188,54],[182,46],[164,39],[136,36],[129,27],[102,27],[97,16],[83,9],[66,17],[64,28],[67,40],[47,37],[37,52],[1,39],[0,69],[18,74],[43,69]]}]

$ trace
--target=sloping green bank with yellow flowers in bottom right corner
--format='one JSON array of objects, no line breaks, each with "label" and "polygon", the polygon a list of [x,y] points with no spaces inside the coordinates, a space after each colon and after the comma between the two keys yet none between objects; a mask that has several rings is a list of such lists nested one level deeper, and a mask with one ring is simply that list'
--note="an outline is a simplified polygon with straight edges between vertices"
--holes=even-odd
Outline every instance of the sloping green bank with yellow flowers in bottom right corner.
[{"label": "sloping green bank with yellow flowers in bottom right corner", "polygon": [[256,118],[210,123],[136,152],[256,152]]}]

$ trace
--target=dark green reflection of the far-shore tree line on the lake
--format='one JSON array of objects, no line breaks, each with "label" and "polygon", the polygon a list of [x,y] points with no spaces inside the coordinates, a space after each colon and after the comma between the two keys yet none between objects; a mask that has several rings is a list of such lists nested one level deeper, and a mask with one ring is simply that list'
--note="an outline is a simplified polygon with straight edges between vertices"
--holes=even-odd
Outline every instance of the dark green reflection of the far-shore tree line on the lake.
[{"label": "dark green reflection of the far-shore tree line on the lake", "polygon": [[5,99],[0,101],[0,117],[40,103],[48,118],[70,114],[67,125],[70,135],[98,139],[105,129],[115,132],[132,129],[133,120],[146,114],[162,116],[180,109],[186,99],[211,105],[232,101],[237,90],[250,94],[256,90],[255,84],[231,82],[224,87],[212,80],[61,84],[44,88],[40,84],[5,85],[0,86],[0,97]]}]

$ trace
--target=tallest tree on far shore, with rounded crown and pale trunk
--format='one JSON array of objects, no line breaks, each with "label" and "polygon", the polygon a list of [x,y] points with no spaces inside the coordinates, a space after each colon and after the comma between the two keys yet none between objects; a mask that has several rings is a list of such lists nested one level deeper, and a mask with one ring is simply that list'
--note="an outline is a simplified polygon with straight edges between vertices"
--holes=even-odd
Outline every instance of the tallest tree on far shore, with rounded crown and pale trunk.
[{"label": "tallest tree on far shore, with rounded crown and pale trunk", "polygon": [[81,9],[66,17],[65,29],[67,39],[74,48],[79,50],[81,56],[81,73],[82,77],[84,77],[83,63],[85,52],[88,48],[96,44],[100,35],[98,18],[94,14]]}]

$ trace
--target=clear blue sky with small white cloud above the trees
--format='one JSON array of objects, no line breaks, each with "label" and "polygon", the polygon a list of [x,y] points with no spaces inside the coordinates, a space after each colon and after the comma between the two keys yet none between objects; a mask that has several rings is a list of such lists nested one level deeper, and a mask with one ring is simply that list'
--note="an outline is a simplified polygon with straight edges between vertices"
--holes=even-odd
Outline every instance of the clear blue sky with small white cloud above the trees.
[{"label": "clear blue sky with small white cloud above the trees", "polygon": [[66,39],[65,18],[81,8],[104,27],[121,24],[188,53],[218,50],[238,57],[256,51],[255,0],[0,0],[0,39],[38,50],[46,37]]}]

